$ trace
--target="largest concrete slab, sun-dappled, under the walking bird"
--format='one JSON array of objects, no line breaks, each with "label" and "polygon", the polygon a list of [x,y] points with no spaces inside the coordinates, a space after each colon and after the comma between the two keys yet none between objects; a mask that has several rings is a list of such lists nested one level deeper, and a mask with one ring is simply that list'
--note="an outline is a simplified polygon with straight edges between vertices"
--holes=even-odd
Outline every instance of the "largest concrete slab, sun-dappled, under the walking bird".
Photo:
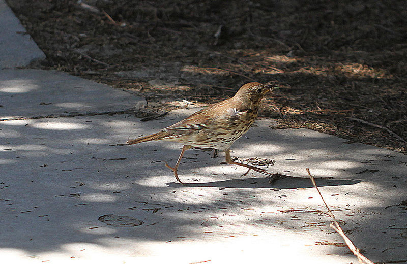
[{"label": "largest concrete slab, sun-dappled, under the walking bird", "polygon": [[[130,115],[0,122],[2,258],[357,261],[332,233],[306,178],[269,185],[264,175],[240,177],[244,168],[221,164],[222,152],[213,159],[193,149],[179,167],[183,187],[162,162],[174,163],[180,144],[121,144],[195,110],[151,122]],[[267,170],[289,176],[306,177],[306,167],[333,176],[317,184],[356,246],[373,261],[405,259],[405,155],[307,129],[273,130],[267,119],[257,125],[232,146],[232,156],[273,159]]]}]

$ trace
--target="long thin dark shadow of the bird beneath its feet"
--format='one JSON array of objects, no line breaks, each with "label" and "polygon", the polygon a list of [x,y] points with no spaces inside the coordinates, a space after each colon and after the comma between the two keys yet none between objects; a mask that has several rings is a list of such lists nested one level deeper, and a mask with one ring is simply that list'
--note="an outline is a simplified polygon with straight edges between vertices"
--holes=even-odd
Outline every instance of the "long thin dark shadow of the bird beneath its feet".
[{"label": "long thin dark shadow of the bird beneath its feet", "polygon": [[[180,183],[169,182],[166,183],[168,187],[217,187],[217,188],[248,188],[248,189],[297,189],[297,188],[313,188],[309,178],[286,176],[281,179],[277,179],[273,183],[269,183],[269,177],[261,178],[246,178],[246,179],[231,179],[224,181],[214,182],[202,182],[202,183],[186,183],[181,185]],[[316,184],[318,187],[327,186],[343,186],[353,185],[360,183],[360,180],[335,180],[328,178],[316,178]]]}]

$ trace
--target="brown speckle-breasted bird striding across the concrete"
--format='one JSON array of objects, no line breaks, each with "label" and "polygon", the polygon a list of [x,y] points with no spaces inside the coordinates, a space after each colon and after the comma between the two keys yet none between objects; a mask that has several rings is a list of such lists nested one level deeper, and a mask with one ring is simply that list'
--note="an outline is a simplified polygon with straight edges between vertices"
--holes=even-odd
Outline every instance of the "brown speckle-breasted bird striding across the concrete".
[{"label": "brown speckle-breasted bird striding across the concrete", "polygon": [[129,139],[127,144],[137,144],[151,140],[175,141],[184,144],[180,157],[174,167],[167,162],[165,166],[174,172],[175,178],[184,184],[178,177],[177,169],[185,150],[191,147],[213,148],[225,151],[226,162],[265,173],[266,170],[248,164],[232,161],[230,146],[245,134],[258,114],[258,107],[263,96],[278,88],[277,85],[264,85],[258,82],[243,85],[235,96],[216,103],[208,108],[193,113],[184,120],[168,126],[158,133],[139,139]]}]

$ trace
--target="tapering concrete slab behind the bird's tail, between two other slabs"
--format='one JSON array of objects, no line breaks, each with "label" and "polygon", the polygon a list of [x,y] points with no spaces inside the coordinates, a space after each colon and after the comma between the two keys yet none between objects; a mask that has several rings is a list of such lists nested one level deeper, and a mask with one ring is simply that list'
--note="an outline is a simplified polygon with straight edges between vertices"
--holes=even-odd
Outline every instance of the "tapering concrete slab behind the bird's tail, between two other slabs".
[{"label": "tapering concrete slab behind the bird's tail, between two other slabs", "polygon": [[107,113],[144,104],[144,98],[63,72],[0,71],[0,120]]}]

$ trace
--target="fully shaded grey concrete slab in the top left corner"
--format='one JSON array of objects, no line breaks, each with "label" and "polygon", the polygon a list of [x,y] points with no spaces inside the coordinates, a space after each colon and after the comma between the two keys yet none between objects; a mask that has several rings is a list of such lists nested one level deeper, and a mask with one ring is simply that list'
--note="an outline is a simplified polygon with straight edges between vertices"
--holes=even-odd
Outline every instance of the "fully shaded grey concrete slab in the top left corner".
[{"label": "fully shaded grey concrete slab in the top left corner", "polygon": [[4,0],[0,0],[0,25],[0,69],[21,67],[45,59],[44,52]]}]

